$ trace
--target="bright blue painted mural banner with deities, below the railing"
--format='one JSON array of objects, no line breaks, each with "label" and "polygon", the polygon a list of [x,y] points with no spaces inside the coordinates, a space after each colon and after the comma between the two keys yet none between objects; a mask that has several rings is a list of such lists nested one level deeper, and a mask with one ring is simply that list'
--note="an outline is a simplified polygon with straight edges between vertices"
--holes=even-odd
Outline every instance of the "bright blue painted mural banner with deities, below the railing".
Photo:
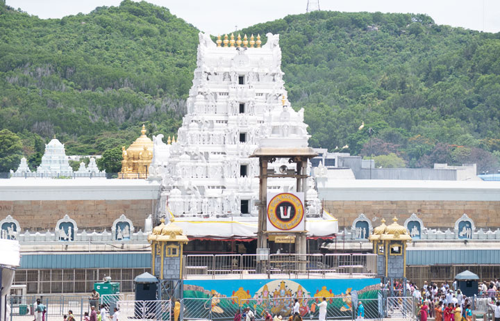
[{"label": "bright blue painted mural banner with deities, below the railing", "polygon": [[303,318],[317,319],[316,305],[326,297],[328,318],[351,320],[353,298],[363,301],[365,311],[378,311],[379,293],[380,279],[185,280],[184,317],[206,313],[213,320],[232,320],[238,309],[249,307],[258,319],[264,311],[287,318],[298,299]]}]

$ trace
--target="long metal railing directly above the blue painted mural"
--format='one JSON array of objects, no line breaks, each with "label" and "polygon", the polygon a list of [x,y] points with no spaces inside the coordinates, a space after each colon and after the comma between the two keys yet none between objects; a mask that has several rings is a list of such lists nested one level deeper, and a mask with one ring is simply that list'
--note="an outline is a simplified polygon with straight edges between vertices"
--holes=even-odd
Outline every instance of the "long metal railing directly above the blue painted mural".
[{"label": "long metal railing directly above the blue painted mural", "polygon": [[377,273],[376,254],[228,254],[185,256],[185,277],[239,274],[289,274],[292,276],[328,274],[373,275]]}]

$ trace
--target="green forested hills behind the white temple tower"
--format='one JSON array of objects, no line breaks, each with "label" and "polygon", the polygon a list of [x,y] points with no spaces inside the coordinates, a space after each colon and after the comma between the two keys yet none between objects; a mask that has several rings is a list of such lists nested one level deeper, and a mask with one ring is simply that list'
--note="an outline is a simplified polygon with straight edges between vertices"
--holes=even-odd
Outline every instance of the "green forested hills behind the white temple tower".
[{"label": "green forested hills behind the white temple tower", "polygon": [[[426,15],[326,11],[238,32],[280,34],[289,99],[306,109],[313,147],[390,155],[383,166],[500,168],[500,33]],[[27,155],[39,151],[39,136],[92,154],[130,143],[142,122],[171,135],[197,33],[145,2],[46,20],[3,7],[0,129],[17,133]]]}]

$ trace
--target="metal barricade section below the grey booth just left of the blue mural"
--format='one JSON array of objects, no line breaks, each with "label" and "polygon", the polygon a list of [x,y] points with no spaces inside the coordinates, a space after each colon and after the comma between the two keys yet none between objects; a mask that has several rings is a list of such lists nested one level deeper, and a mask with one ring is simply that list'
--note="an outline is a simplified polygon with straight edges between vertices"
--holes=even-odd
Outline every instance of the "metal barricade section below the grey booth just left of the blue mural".
[{"label": "metal barricade section below the grey booth just left of the blue mural", "polygon": [[163,301],[118,301],[119,320],[163,320],[170,321],[172,304]]}]

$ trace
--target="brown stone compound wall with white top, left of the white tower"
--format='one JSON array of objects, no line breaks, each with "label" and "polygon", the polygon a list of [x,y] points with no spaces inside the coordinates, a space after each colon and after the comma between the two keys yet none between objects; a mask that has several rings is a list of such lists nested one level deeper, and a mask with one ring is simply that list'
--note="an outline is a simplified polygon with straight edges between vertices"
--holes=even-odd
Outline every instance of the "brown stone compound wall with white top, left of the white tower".
[{"label": "brown stone compound wall with white top, left of the white tower", "polygon": [[142,179],[9,179],[0,185],[0,217],[47,231],[69,215],[82,231],[110,229],[122,214],[139,229],[153,213],[159,184]]}]

